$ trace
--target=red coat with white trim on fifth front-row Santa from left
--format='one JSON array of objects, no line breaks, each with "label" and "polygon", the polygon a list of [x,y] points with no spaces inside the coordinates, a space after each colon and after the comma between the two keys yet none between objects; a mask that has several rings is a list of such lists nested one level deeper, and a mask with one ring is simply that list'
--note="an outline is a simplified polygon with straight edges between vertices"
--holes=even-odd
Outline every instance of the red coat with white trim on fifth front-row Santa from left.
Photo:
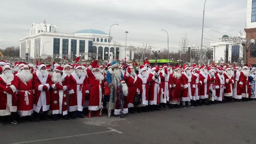
[{"label": "red coat with white trim on fifth front-row Santa from left", "polygon": [[84,100],[85,93],[89,93],[89,85],[86,75],[82,75],[80,79],[76,76],[76,73],[73,72],[69,76],[69,88],[68,93],[70,94],[70,102],[68,110],[72,111],[83,111],[84,109]]}]

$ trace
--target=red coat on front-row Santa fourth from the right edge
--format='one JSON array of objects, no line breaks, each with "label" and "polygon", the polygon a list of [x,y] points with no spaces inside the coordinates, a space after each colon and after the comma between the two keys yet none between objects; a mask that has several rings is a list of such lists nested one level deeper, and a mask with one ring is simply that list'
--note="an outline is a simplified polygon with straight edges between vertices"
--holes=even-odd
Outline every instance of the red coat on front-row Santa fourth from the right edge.
[{"label": "red coat on front-row Santa fourth from the right edge", "polygon": [[228,76],[226,71],[224,72],[223,76],[224,76],[224,79],[225,79],[225,89],[224,89],[223,96],[232,97],[233,96],[234,77],[233,76]]}]

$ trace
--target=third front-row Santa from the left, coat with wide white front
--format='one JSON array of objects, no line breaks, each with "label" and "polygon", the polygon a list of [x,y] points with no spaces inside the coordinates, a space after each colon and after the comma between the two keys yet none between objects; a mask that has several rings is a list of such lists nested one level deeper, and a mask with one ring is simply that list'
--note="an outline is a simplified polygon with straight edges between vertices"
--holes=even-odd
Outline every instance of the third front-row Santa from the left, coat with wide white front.
[{"label": "third front-row Santa from the left, coat with wide white front", "polygon": [[35,89],[34,94],[34,116],[36,122],[40,121],[39,112],[40,110],[44,113],[44,119],[50,120],[47,118],[47,112],[50,109],[51,97],[50,97],[50,88],[52,85],[51,75],[46,70],[44,64],[38,66],[38,70],[33,74],[33,85]]}]

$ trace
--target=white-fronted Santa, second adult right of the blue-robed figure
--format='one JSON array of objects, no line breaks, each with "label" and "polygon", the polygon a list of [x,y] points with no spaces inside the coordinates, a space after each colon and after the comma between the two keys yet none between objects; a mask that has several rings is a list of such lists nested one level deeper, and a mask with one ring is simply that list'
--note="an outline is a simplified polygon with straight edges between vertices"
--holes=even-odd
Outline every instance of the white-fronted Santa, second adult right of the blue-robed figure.
[{"label": "white-fronted Santa, second adult right of the blue-robed figure", "polygon": [[149,81],[148,81],[148,73],[144,66],[140,66],[140,74],[138,74],[138,77],[142,80],[142,101],[141,101],[141,108],[142,111],[149,112],[148,108],[148,93],[149,93]]}]

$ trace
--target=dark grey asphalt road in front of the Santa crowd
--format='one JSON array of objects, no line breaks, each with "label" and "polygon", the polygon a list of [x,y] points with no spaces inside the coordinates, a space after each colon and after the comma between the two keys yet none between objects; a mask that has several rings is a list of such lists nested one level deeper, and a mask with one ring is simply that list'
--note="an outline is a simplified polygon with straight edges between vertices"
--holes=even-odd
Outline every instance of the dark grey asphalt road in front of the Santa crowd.
[{"label": "dark grey asphalt road in front of the Santa crowd", "polygon": [[0,126],[0,144],[255,144],[256,101]]}]

